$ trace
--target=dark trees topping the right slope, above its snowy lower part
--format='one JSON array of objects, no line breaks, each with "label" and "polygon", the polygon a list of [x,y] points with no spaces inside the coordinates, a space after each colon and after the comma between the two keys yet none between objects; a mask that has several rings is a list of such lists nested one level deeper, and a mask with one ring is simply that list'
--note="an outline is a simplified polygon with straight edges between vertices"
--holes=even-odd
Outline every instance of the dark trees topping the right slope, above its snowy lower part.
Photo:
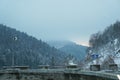
[{"label": "dark trees topping the right slope, above its snowy lower part", "polygon": [[113,42],[115,39],[120,40],[120,22],[107,27],[103,32],[97,32],[91,35],[89,44],[92,48],[98,48]]}]

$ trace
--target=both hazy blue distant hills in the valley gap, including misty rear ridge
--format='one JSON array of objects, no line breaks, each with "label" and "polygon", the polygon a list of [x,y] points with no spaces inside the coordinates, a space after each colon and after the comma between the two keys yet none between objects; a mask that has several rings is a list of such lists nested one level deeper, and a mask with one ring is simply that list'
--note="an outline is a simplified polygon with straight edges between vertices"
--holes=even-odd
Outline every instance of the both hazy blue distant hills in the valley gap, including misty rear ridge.
[{"label": "both hazy blue distant hills in the valley gap, including misty rear ridge", "polygon": [[65,52],[67,55],[74,56],[78,61],[85,58],[86,46],[78,45],[71,41],[48,41],[48,44]]}]

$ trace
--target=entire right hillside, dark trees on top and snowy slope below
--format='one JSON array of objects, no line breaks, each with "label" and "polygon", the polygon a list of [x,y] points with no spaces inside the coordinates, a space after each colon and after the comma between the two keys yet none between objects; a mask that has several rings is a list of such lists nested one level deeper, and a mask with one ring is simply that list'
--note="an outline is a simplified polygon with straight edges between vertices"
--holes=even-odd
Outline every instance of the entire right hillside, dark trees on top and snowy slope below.
[{"label": "entire right hillside, dark trees on top and snowy slope below", "polygon": [[120,57],[120,22],[117,21],[104,31],[91,35],[89,44],[86,61],[91,62],[91,55],[98,54],[99,61],[93,60],[95,64],[103,66],[112,63],[120,64],[118,58]]}]

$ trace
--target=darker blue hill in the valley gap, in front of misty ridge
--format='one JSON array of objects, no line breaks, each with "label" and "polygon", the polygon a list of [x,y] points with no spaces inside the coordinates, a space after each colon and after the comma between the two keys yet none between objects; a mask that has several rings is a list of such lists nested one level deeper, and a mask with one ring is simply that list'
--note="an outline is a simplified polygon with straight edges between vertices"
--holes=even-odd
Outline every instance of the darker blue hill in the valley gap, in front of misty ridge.
[{"label": "darker blue hill in the valley gap, in front of misty ridge", "polygon": [[71,44],[67,44],[67,45],[63,46],[59,50],[67,53],[68,55],[74,56],[77,61],[81,61],[81,60],[85,59],[86,49],[87,49],[86,46],[71,43]]}]

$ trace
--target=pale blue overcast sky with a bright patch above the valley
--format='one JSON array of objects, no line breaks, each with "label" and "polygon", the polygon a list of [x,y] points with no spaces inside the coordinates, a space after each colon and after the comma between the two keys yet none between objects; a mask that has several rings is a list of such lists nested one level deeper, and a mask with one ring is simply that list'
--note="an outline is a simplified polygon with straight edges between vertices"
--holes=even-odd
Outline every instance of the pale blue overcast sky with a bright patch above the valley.
[{"label": "pale blue overcast sky with a bright patch above the valley", "polygon": [[87,44],[120,20],[120,0],[0,0],[0,23],[47,40]]}]

